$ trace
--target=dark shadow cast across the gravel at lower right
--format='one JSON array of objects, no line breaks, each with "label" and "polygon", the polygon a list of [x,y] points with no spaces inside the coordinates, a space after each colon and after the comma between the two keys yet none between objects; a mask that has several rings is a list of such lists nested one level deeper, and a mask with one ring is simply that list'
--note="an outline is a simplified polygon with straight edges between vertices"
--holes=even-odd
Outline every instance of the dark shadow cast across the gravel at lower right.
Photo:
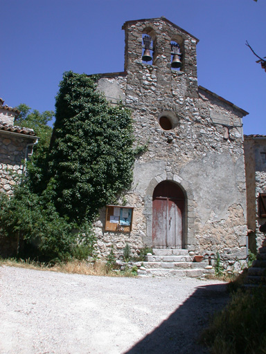
[{"label": "dark shadow cast across the gravel at lower right", "polygon": [[[124,354],[205,354],[197,339],[208,320],[229,300],[227,284],[199,286],[168,319]],[[156,316],[156,313],[154,313]]]}]

